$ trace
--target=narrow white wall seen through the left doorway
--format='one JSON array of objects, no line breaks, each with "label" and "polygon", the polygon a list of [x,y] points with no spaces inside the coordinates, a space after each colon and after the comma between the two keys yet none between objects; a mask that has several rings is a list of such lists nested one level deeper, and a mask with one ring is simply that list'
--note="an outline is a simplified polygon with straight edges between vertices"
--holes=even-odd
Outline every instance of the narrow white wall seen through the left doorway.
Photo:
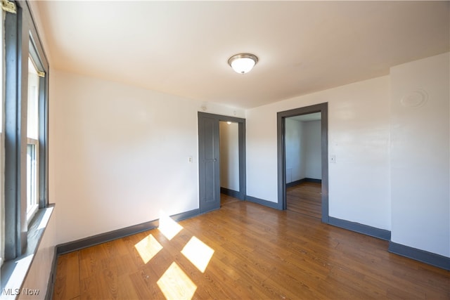
[{"label": "narrow white wall seen through the left doorway", "polygon": [[219,122],[220,186],[239,191],[239,125]]}]

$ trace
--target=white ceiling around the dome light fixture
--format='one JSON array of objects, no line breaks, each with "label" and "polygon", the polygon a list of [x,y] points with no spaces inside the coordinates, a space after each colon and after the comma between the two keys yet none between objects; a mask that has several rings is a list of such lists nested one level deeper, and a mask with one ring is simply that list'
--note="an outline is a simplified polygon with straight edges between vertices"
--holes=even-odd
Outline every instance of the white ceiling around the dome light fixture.
[{"label": "white ceiling around the dome light fixture", "polygon": [[[449,51],[449,1],[37,1],[51,67],[250,108]],[[240,52],[259,58],[237,74]]]}]

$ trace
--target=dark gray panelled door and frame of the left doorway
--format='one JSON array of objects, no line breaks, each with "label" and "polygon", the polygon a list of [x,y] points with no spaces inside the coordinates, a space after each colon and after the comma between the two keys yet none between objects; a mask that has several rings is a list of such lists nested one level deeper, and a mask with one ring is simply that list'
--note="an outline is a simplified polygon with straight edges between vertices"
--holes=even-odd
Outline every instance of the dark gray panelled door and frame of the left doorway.
[{"label": "dark gray panelled door and frame of the left doorway", "polygon": [[239,191],[245,200],[245,119],[198,112],[198,178],[200,214],[220,208],[219,122],[238,123]]}]

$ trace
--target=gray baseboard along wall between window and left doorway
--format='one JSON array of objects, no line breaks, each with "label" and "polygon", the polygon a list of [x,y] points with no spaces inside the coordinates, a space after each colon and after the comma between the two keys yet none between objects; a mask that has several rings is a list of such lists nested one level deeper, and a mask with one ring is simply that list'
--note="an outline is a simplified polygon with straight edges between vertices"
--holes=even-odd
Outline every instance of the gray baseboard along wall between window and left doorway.
[{"label": "gray baseboard along wall between window and left doorway", "polygon": [[[174,221],[181,221],[184,219],[192,218],[193,216],[198,216],[200,211],[198,209],[193,209],[191,211],[182,212],[181,214],[175,214],[172,217]],[[110,231],[108,233],[100,233],[98,235],[93,235],[91,237],[84,237],[80,240],[75,240],[72,242],[66,242],[64,244],[58,244],[56,246],[56,254],[66,254],[69,252],[74,252],[79,249],[84,249],[87,247],[95,246],[96,244],[103,244],[104,242],[110,242],[112,240],[117,240],[121,237],[126,237],[128,235],[134,235],[136,233],[141,233],[150,229],[158,228],[159,220],[148,221],[145,223],[137,224],[134,226],[129,226],[126,228],[121,228],[117,230]]]}]

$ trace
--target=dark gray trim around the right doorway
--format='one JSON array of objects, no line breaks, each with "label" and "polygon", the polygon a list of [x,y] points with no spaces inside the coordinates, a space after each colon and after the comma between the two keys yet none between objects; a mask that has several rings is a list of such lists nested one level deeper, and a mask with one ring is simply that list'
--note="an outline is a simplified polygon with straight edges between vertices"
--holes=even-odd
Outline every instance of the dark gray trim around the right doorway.
[{"label": "dark gray trim around the right doorway", "polygon": [[278,112],[277,124],[277,152],[278,152],[278,207],[286,209],[286,153],[285,153],[285,119],[314,112],[321,113],[321,158],[322,158],[322,222],[329,223],[328,214],[328,103],[321,103],[306,107]]}]

